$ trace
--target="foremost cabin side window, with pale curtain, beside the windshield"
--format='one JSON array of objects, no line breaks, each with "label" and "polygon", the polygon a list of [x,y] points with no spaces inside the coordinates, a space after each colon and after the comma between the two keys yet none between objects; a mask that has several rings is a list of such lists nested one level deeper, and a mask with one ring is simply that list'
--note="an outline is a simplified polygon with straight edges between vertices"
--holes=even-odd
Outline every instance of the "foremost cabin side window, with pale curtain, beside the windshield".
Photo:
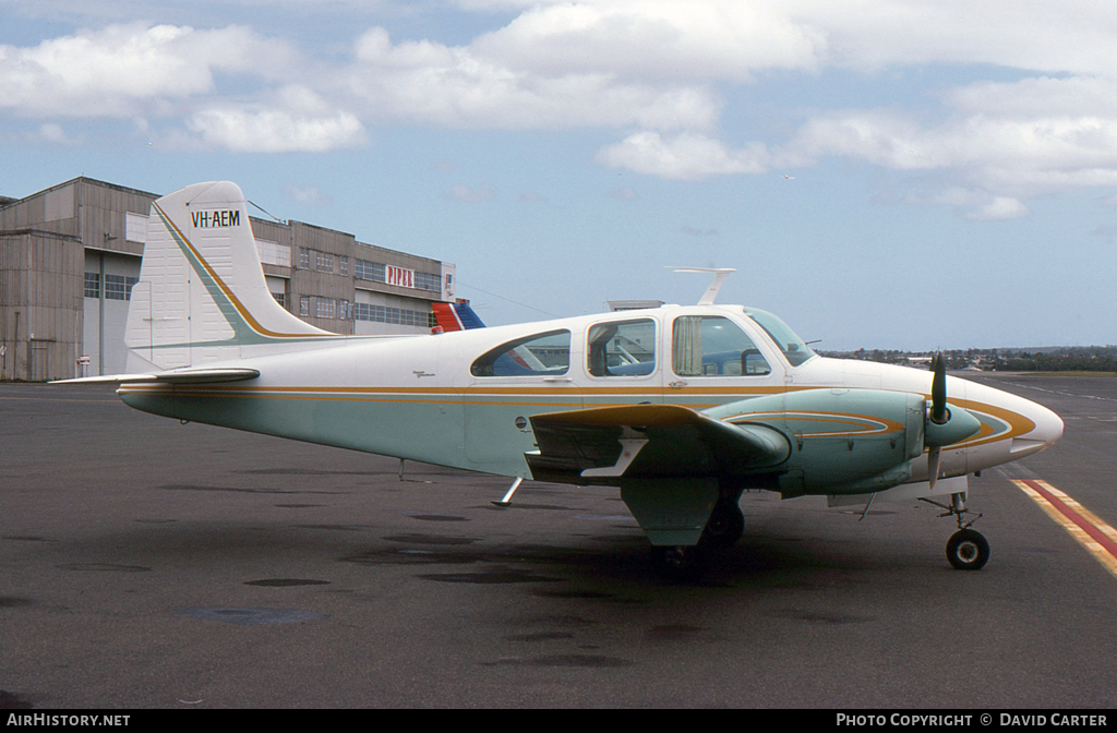
[{"label": "foremost cabin side window, with pale curtain, beside the windshield", "polygon": [[675,320],[671,369],[679,377],[758,377],[772,372],[748,334],[719,315]]}]

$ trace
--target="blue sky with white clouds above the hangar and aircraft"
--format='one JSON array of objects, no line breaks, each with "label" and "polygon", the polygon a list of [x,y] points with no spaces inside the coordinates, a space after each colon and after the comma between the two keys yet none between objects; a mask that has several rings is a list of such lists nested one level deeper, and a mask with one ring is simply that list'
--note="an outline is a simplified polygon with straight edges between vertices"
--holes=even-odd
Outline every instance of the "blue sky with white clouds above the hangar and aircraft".
[{"label": "blue sky with white clouds above the hangar and aircraft", "polygon": [[823,349],[1117,343],[1117,6],[0,0],[0,194],[236,181],[491,324],[773,311]]}]

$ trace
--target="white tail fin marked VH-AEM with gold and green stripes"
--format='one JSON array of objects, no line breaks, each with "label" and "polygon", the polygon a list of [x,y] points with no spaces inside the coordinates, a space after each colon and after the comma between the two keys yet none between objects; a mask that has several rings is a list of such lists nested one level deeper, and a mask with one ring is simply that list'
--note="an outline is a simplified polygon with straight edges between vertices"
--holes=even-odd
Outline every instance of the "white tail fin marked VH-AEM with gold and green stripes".
[{"label": "white tail fin marked VH-AEM with gold and green stripes", "polygon": [[198,183],[151,204],[124,335],[128,372],[286,351],[328,336],[341,337],[271,297],[237,184]]}]

